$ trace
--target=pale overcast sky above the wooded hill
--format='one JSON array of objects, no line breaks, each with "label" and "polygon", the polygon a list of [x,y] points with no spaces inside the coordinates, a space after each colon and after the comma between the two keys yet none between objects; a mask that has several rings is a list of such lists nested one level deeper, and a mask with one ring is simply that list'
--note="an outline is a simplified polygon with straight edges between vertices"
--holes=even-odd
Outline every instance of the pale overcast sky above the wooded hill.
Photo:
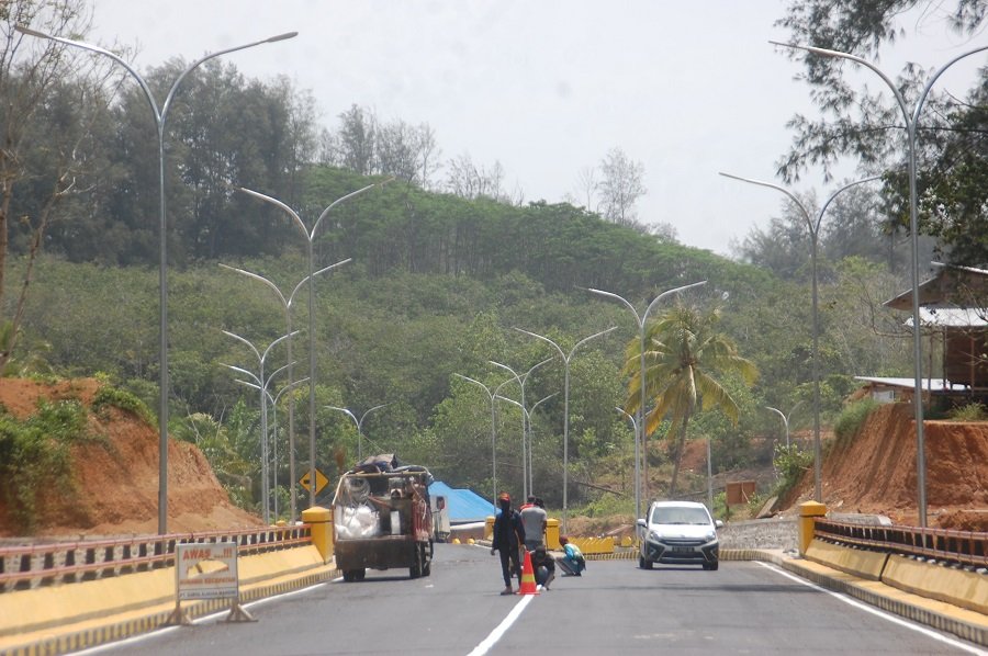
[{"label": "pale overcast sky above the wooded hill", "polygon": [[[671,224],[683,244],[729,255],[732,239],[779,214],[782,195],[717,172],[777,182],[774,162],[790,142],[786,121],[795,112],[816,116],[808,88],[793,81],[799,66],[767,43],[788,41],[773,26],[785,4],[94,0],[88,38],[137,45],[135,64],[144,71],[171,57],[192,61],[297,31],[224,61],[247,77],[285,75],[311,90],[332,128],[351,104],[383,122],[426,122],[444,160],[499,161],[505,190],[520,189],[526,201],[575,193],[581,169],[620,147],[644,167],[642,222]],[[908,21],[910,33],[919,27],[924,36],[884,55],[880,66],[892,77],[906,59],[932,68],[980,45],[950,34],[935,16]],[[983,55],[970,59],[936,88],[963,97],[975,66],[986,64]],[[880,88],[868,75],[874,79],[856,79]],[[823,196],[837,186],[811,172],[794,191]]]}]

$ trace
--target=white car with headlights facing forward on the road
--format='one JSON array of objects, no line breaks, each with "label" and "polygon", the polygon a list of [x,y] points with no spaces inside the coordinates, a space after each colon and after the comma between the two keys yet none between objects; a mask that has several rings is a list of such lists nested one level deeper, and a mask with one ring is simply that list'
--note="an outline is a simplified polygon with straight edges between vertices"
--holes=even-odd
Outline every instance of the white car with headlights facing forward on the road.
[{"label": "white car with headlights facing forward on the road", "polygon": [[651,569],[653,563],[663,565],[703,565],[717,569],[720,543],[714,521],[703,504],[693,501],[654,501],[647,519],[638,520],[638,566]]}]

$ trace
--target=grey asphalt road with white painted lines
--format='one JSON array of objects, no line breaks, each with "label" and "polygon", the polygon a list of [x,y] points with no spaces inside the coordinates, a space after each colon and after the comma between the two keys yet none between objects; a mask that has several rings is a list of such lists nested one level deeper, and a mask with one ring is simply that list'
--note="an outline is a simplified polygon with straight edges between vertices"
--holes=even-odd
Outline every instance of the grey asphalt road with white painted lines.
[{"label": "grey asphalt road with white painted lines", "polygon": [[984,654],[771,565],[638,569],[596,561],[539,596],[501,597],[499,561],[436,545],[429,577],[369,572],[87,654]]}]

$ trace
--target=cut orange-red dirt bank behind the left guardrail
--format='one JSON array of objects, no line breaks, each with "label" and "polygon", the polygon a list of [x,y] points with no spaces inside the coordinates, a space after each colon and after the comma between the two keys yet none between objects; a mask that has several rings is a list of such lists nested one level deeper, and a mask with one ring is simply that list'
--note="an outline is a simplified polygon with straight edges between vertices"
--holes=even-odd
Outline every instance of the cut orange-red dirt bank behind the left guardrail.
[{"label": "cut orange-red dirt bank behind the left guardrail", "polygon": [[[54,385],[19,378],[0,378],[0,404],[8,412],[26,418],[38,397],[77,398],[92,403],[99,383],[91,378]],[[89,429],[105,436],[99,442],[74,448],[74,491],[66,495],[53,485],[42,493],[35,536],[92,538],[149,534],[158,531],[158,431],[128,412],[110,409],[109,420],[90,414]],[[202,452],[177,440],[168,443],[168,532],[261,525],[259,518],[233,504],[216,480]],[[0,495],[0,536],[15,536],[7,500]]]}]

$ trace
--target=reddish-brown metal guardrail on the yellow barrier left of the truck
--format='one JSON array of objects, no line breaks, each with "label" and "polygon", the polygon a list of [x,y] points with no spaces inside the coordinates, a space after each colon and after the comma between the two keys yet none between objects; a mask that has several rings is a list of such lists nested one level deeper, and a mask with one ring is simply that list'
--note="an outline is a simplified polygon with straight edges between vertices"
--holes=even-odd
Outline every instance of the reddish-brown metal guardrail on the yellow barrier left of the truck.
[{"label": "reddish-brown metal guardrail on the yellow barrier left of the truck", "polygon": [[243,556],[310,544],[312,527],[265,527],[2,547],[0,592],[171,567],[177,544],[210,542],[236,542],[237,554]]}]

